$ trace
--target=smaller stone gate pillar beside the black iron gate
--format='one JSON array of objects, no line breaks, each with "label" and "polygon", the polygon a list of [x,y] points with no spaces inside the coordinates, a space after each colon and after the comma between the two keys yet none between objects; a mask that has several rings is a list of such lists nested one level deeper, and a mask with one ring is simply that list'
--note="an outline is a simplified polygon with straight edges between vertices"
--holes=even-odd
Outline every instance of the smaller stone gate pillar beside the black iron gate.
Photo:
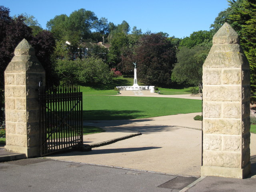
[{"label": "smaller stone gate pillar beside the black iron gate", "polygon": [[5,72],[5,150],[40,155],[38,83],[45,71],[35,50],[23,39]]}]

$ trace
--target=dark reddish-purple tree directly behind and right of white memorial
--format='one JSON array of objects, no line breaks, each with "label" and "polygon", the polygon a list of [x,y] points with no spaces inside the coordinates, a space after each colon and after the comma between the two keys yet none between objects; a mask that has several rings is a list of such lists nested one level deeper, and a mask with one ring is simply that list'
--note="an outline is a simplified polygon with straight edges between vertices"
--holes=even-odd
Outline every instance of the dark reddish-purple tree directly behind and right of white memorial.
[{"label": "dark reddish-purple tree directly behind and right of white memorial", "polygon": [[160,33],[142,36],[134,61],[142,83],[170,86],[172,66],[176,63],[176,49],[168,38]]}]

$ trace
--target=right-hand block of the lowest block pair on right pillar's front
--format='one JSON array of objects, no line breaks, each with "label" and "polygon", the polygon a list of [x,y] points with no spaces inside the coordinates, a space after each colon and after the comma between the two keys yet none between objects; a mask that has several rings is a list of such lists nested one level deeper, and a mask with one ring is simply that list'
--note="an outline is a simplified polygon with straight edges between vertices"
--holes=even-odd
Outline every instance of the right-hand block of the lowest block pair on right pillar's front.
[{"label": "right-hand block of the lowest block pair on right pillar's front", "polygon": [[222,150],[224,151],[240,151],[241,150],[241,136],[223,135],[222,136]]}]

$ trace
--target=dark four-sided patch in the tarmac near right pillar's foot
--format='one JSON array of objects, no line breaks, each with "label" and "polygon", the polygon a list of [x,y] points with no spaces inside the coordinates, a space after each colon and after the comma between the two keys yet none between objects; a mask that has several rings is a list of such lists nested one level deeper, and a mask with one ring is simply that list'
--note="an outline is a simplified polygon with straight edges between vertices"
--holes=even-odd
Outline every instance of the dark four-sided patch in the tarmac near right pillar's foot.
[{"label": "dark four-sided patch in the tarmac near right pillar's foot", "polygon": [[182,176],[177,176],[176,178],[165,182],[164,184],[158,186],[161,188],[168,188],[168,189],[183,189],[184,187],[188,186],[198,178],[196,177],[182,177]]}]

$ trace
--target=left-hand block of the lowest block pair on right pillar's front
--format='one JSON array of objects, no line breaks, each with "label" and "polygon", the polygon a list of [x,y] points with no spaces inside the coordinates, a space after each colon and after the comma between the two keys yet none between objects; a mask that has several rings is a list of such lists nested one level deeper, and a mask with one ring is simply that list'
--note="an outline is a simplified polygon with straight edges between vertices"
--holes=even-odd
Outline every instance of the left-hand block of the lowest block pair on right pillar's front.
[{"label": "left-hand block of the lowest block pair on right pillar's front", "polygon": [[204,150],[221,150],[221,136],[204,134],[203,149]]}]

